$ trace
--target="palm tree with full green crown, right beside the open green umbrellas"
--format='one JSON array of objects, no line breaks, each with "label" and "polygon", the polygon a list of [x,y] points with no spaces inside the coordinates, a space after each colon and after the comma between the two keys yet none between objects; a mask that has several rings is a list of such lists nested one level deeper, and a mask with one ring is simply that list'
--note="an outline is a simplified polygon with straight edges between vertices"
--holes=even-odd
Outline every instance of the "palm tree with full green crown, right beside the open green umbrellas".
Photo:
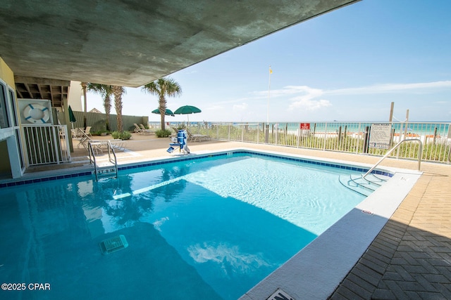
[{"label": "palm tree with full green crown, right beside the open green umbrellas", "polygon": [[182,88],[171,77],[160,78],[142,86],[142,91],[158,96],[158,108],[161,116],[161,130],[165,129],[164,116],[166,114],[166,96],[175,97],[182,95]]}]

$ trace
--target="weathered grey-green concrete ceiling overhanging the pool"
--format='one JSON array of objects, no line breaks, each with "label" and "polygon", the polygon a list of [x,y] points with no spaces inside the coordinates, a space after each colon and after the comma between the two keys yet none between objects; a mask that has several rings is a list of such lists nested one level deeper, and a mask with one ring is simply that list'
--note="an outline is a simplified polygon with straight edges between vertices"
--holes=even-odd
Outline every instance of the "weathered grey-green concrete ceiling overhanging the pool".
[{"label": "weathered grey-green concrete ceiling overhanging the pool", "polygon": [[24,98],[136,87],[356,1],[7,0],[0,56]]}]

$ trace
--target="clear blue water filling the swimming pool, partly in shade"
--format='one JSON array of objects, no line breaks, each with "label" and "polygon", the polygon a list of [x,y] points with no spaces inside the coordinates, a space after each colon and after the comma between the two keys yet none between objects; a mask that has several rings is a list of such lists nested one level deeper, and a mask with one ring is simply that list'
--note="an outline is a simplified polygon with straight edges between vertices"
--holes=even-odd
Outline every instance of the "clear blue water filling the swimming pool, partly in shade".
[{"label": "clear blue water filling the swimming pool, partly in shade", "polygon": [[237,154],[0,189],[0,282],[50,285],[0,298],[237,299],[363,200],[340,174]]}]

